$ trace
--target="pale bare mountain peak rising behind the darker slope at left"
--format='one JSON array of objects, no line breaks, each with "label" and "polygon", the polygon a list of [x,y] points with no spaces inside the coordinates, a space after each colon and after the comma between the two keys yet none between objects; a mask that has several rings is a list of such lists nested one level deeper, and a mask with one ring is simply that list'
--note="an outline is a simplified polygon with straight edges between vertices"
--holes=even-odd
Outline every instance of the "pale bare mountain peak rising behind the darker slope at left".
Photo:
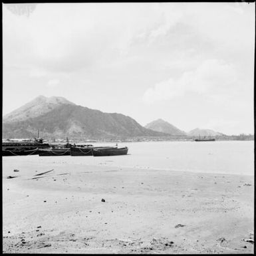
[{"label": "pale bare mountain peak rising behind the darker slope at left", "polygon": [[3,116],[3,122],[16,122],[41,116],[42,114],[51,112],[51,110],[63,104],[74,105],[74,103],[66,100],[63,97],[52,96],[47,98],[43,95],[40,95],[21,108],[18,108],[17,110],[14,110],[13,112]]}]

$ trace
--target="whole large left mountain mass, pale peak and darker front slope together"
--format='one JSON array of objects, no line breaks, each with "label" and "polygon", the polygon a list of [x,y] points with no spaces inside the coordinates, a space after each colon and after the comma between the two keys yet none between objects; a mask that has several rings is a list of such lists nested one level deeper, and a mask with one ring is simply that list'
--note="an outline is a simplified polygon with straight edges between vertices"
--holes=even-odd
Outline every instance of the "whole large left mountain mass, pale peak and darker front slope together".
[{"label": "whole large left mountain mass, pale peak and darker front slope together", "polygon": [[61,97],[39,96],[3,118],[3,138],[131,138],[167,136],[129,116],[78,106]]}]

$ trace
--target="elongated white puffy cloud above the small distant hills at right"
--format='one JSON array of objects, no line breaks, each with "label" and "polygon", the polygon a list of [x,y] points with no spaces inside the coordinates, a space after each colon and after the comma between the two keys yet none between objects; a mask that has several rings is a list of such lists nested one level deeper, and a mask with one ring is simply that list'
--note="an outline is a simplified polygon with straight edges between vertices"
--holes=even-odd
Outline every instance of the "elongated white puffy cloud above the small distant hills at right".
[{"label": "elongated white puffy cloud above the small distant hills at right", "polygon": [[169,78],[158,82],[144,92],[143,100],[148,104],[160,100],[170,100],[183,96],[187,92],[196,92],[215,96],[230,91],[236,83],[235,68],[221,60],[209,59],[195,70],[187,71],[178,78]]}]

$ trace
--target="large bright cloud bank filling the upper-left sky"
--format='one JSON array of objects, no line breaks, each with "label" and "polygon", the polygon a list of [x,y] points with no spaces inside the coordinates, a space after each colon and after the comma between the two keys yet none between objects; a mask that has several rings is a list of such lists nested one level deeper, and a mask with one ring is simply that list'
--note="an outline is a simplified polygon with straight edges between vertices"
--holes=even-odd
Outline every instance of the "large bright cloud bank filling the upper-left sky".
[{"label": "large bright cloud bank filling the upper-left sky", "polygon": [[139,35],[166,35],[181,19],[173,9],[157,3],[38,4],[24,17],[3,5],[4,62],[29,63],[49,72],[104,66],[126,57]]}]

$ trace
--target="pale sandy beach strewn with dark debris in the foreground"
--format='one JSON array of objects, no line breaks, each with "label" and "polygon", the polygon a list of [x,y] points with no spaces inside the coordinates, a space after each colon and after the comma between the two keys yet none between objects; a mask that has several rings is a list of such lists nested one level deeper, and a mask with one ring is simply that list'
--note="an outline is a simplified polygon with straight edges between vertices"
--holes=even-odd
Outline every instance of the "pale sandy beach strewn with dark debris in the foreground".
[{"label": "pale sandy beach strewn with dark debris in the foreground", "polygon": [[253,176],[57,158],[3,159],[3,253],[253,253]]}]

